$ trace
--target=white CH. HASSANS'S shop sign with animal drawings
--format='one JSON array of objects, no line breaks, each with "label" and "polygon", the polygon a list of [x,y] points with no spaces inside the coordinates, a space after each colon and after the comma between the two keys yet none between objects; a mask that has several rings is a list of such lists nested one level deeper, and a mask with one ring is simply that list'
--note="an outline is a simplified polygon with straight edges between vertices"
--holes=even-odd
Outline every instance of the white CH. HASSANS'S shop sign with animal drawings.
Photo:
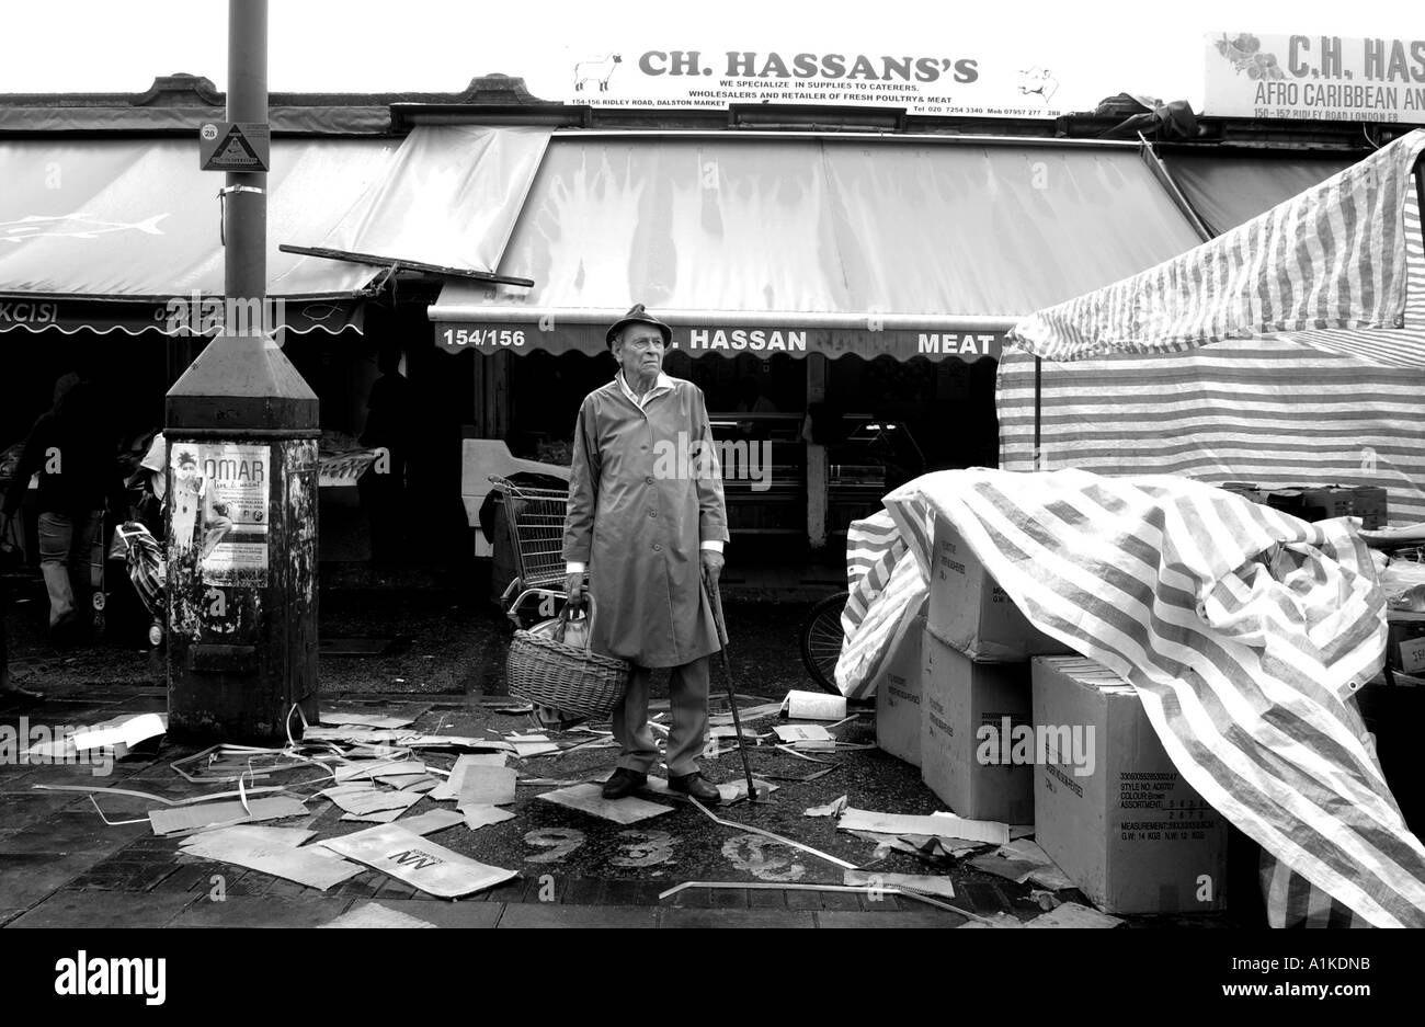
[{"label": "white CH. HASSANS'S shop sign with animal drawings", "polygon": [[[1057,117],[1059,81],[1033,60],[996,67],[963,50],[665,47],[569,51],[570,103],[597,107],[864,104],[911,114]],[[536,91],[540,91],[536,87]]]}]

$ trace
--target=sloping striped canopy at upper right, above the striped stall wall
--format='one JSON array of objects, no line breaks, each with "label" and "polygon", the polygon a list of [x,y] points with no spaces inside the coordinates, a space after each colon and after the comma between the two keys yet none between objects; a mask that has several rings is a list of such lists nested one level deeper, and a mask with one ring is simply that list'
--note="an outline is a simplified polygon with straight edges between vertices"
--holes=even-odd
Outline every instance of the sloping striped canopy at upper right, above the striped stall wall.
[{"label": "sloping striped canopy at upper right, above the striped stall wall", "polygon": [[[1412,131],[1196,249],[1025,318],[1010,339],[1045,359],[1079,360],[1284,332],[1402,328],[1406,207],[1422,150],[1425,130]],[[1415,228],[1418,238],[1418,214]],[[1379,348],[1368,336],[1349,340],[1358,355],[1425,366],[1425,349],[1408,338]]]}]

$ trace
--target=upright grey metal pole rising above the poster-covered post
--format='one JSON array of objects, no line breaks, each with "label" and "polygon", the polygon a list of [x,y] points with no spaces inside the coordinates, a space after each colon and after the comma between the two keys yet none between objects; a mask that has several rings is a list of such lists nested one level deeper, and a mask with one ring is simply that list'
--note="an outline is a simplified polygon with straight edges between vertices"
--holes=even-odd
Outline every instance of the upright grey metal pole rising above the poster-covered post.
[{"label": "upright grey metal pole rising above the poster-covered post", "polygon": [[[228,121],[268,121],[268,0],[228,0]],[[266,174],[227,174],[222,255],[227,298],[266,295]]]}]

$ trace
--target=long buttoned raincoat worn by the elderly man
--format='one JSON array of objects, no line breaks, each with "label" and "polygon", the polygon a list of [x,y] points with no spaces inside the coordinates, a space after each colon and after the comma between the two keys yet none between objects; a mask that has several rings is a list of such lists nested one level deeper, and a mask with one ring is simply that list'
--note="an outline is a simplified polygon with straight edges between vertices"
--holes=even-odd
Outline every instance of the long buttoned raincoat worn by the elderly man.
[{"label": "long buttoned raincoat worn by the elderly man", "polygon": [[584,397],[574,427],[564,560],[589,565],[590,648],[638,667],[718,650],[698,548],[727,541],[722,481],[703,390],[631,402],[617,379]]}]

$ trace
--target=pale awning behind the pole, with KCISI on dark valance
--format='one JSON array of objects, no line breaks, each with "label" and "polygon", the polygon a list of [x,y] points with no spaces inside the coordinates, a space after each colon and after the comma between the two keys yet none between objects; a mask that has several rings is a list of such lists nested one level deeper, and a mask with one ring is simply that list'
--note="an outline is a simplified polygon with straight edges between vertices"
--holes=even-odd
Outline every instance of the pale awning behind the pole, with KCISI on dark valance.
[{"label": "pale awning behind the pole, with KCISI on dark valance", "polygon": [[[490,273],[547,135],[274,140],[268,295],[282,323],[359,328],[361,301],[408,258]],[[0,330],[212,325],[202,303],[222,296],[224,177],[198,170],[194,140],[0,141]]]}]

